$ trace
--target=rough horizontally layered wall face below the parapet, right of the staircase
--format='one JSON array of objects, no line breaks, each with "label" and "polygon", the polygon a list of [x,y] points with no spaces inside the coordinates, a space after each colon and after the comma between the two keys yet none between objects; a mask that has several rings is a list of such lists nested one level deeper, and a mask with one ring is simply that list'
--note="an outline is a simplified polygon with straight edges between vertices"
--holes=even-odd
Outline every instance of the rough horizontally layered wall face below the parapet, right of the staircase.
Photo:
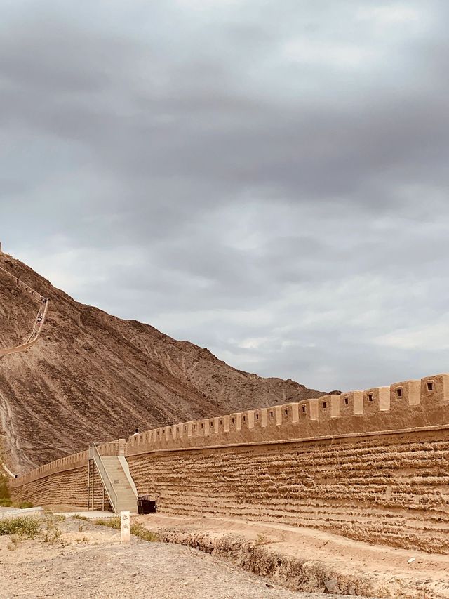
[{"label": "rough horizontally layered wall face below the parapet, right of the staircase", "polygon": [[130,456],[168,514],[282,522],[449,553],[449,429]]}]

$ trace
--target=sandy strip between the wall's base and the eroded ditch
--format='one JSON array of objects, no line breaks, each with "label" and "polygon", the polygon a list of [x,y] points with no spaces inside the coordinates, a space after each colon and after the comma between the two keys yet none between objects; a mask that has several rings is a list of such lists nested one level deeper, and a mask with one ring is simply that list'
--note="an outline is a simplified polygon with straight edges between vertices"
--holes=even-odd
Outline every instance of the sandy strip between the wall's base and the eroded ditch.
[{"label": "sandy strip between the wall's base and the eroded ditch", "polygon": [[[246,541],[260,539],[268,553],[275,552],[302,563],[322,562],[328,570],[328,577],[359,580],[370,587],[370,593],[380,597],[449,598],[448,555],[370,545],[314,529],[245,520],[152,514],[137,516],[135,521],[149,529],[165,531],[163,538],[203,546],[206,551],[217,547],[225,538],[232,540],[234,535],[243,537],[242,545]],[[220,548],[213,553],[220,553]],[[223,556],[226,557],[225,552]],[[280,570],[279,576],[273,572],[272,579],[277,579],[284,586],[290,582],[286,570]]]}]

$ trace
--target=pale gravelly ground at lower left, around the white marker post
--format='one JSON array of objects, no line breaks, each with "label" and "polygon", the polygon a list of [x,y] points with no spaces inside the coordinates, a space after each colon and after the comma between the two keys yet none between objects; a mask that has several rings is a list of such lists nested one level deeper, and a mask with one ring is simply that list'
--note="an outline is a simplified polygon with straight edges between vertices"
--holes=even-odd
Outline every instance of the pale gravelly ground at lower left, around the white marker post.
[{"label": "pale gravelly ground at lower left, around the white marker post", "polygon": [[[0,598],[298,599],[290,593],[201,551],[133,537],[67,518],[59,522],[62,544],[21,541],[11,550],[0,537]],[[329,598],[334,595],[326,595]]]}]

